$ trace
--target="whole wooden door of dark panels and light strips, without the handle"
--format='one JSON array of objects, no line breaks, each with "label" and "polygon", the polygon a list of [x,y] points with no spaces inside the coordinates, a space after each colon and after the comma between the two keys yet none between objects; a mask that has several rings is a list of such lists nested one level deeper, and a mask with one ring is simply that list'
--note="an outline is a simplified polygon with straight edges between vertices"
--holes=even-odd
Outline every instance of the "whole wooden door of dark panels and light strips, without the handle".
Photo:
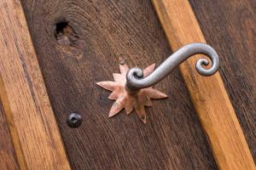
[{"label": "whole wooden door of dark panels and light strips, without the handle", "polygon": [[[14,169],[18,169],[18,166],[21,169],[225,169],[225,167],[250,169],[254,167],[256,88],[253,82],[256,80],[256,74],[253,68],[256,61],[253,59],[253,54],[256,52],[253,48],[255,46],[253,35],[256,25],[253,21],[256,15],[253,13],[255,6],[253,0],[243,2],[219,0],[217,3],[191,0],[189,1],[191,7],[187,1],[167,3],[167,1],[148,0],[15,0],[13,2],[4,0],[3,2],[3,5],[0,4],[1,7],[6,8],[6,14],[3,12],[6,21],[4,26],[10,21],[9,15],[13,18],[23,17],[23,21],[15,24],[14,29],[9,32],[12,35],[9,41],[14,41],[12,47],[24,47],[16,53],[19,61],[15,63],[15,67],[19,65],[22,72],[22,75],[16,76],[19,81],[13,81],[9,77],[9,74],[15,75],[16,71],[13,71],[14,61],[8,57],[10,55],[8,52],[4,52],[6,57],[1,60],[2,65],[0,65],[3,80],[0,88],[4,91],[1,93],[3,100],[1,113],[8,116],[9,124],[15,124],[15,129],[9,125],[11,134],[6,133],[9,139],[13,140],[13,147],[8,146],[10,150],[8,152],[9,161],[13,162]],[[161,13],[160,11],[164,11],[161,10],[163,8],[167,12]],[[193,40],[198,36],[191,36],[192,34],[186,32],[188,29],[182,24],[181,30],[184,35],[180,34],[180,28],[176,24],[171,26],[172,19],[169,20],[168,15],[170,8],[180,8],[181,11],[192,8],[207,42],[220,55],[220,74],[236,115],[226,94],[221,94],[224,100],[216,99],[216,103],[212,105],[224,106],[227,107],[223,108],[224,111],[230,111],[224,116],[227,122],[231,120],[227,123],[230,127],[225,128],[226,132],[235,133],[233,137],[239,139],[236,144],[232,140],[223,143],[217,137],[214,139],[214,135],[218,135],[218,132],[211,130],[217,128],[204,122],[205,115],[201,114],[202,110],[205,109],[208,115],[214,111],[210,111],[209,108],[212,107],[207,103],[209,101],[207,98],[201,98],[206,101],[198,101],[196,98],[196,94],[200,94],[197,92],[198,87],[203,87],[201,82],[205,79],[196,76],[194,70],[191,71],[191,75],[190,71],[188,73],[191,60],[190,63],[182,65],[180,71],[176,69],[155,86],[168,94],[169,98],[153,101],[154,106],[146,109],[148,113],[146,124],[140,121],[135,112],[127,116],[125,111],[121,111],[118,115],[108,118],[108,111],[113,101],[108,99],[109,92],[96,86],[96,82],[113,80],[112,73],[119,72],[120,57],[125,59],[130,67],[137,65],[145,68],[152,63],[160,65],[172,54],[172,49],[175,51],[177,46],[184,45],[186,38]],[[188,13],[194,16],[191,11]],[[180,16],[177,14],[177,24],[180,24],[178,17],[184,16],[183,20],[187,19],[186,13],[184,11]],[[170,25],[166,24],[169,22]],[[240,22],[243,23],[241,27]],[[193,27],[194,24],[191,23],[191,26]],[[4,26],[0,27],[1,31],[6,31],[12,25],[9,23],[9,27]],[[19,30],[20,26],[21,30]],[[177,30],[168,31],[172,28]],[[181,36],[172,38],[178,33]],[[15,43],[13,37],[17,37],[17,34],[20,38]],[[204,38],[199,41],[204,41]],[[26,43],[21,44],[21,42]],[[6,48],[11,46],[8,42],[3,44]],[[4,66],[3,63],[9,65]],[[246,63],[247,66],[242,63]],[[7,70],[11,73],[5,73]],[[207,79],[205,83],[222,84],[219,75],[217,77]],[[200,80],[197,82],[193,78]],[[14,89],[17,89],[15,87],[21,82],[24,82],[26,88],[15,91]],[[14,85],[9,88],[9,83]],[[216,87],[219,88],[213,85],[215,90]],[[224,90],[222,86],[220,88]],[[204,90],[207,91],[207,88]],[[223,93],[221,90],[217,89],[214,92]],[[29,95],[25,95],[25,99],[20,99],[28,91]],[[26,107],[15,107],[25,100]],[[201,107],[200,102],[206,103],[207,106]],[[30,105],[31,103],[35,105],[35,109]],[[35,114],[29,114],[27,117],[25,111],[34,111]],[[67,126],[67,116],[72,112],[79,113],[83,118],[78,128]],[[22,123],[19,119],[20,114]],[[236,121],[236,116],[241,127]],[[28,127],[32,126],[32,129],[21,129],[26,127],[26,123]],[[38,135],[38,131],[42,135]],[[230,148],[225,144],[235,144],[235,146]],[[44,150],[41,150],[42,148]],[[37,150],[35,154],[33,150]],[[233,150],[238,150],[241,156],[233,153],[234,156],[230,156],[230,159],[225,157],[225,152]],[[242,160],[242,156],[248,157]],[[241,162],[237,163],[236,167],[234,162],[239,159]],[[45,165],[42,165],[42,162]]]}]

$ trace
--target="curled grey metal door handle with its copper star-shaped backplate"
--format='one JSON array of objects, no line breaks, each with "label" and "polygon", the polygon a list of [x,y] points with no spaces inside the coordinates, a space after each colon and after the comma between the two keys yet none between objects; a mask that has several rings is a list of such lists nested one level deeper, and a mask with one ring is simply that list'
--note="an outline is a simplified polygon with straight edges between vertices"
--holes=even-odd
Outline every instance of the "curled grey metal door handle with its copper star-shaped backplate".
[{"label": "curled grey metal door handle with its copper star-shaped backplate", "polygon": [[216,51],[205,43],[190,43],[178,49],[169,56],[157,69],[154,65],[149,65],[146,69],[129,67],[125,63],[119,65],[120,74],[114,73],[114,82],[97,82],[102,88],[113,91],[108,99],[116,100],[109,111],[109,117],[116,115],[125,108],[127,114],[133,109],[143,122],[146,122],[145,106],[152,106],[151,99],[163,99],[167,95],[152,88],[154,84],[160,82],[172,70],[180,65],[184,60],[195,54],[206,54],[212,61],[211,68],[205,69],[203,65],[208,65],[207,59],[198,59],[195,68],[202,76],[211,76],[218,71],[219,59]]}]

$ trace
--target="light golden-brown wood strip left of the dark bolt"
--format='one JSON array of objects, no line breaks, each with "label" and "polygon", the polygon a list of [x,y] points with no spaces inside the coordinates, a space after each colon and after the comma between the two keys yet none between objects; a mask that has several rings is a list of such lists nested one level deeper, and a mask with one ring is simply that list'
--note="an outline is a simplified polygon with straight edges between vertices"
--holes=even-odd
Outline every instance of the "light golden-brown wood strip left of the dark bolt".
[{"label": "light golden-brown wood strip left of the dark bolt", "polygon": [[15,149],[21,147],[27,169],[70,169],[20,1],[0,7],[1,99],[13,118]]}]

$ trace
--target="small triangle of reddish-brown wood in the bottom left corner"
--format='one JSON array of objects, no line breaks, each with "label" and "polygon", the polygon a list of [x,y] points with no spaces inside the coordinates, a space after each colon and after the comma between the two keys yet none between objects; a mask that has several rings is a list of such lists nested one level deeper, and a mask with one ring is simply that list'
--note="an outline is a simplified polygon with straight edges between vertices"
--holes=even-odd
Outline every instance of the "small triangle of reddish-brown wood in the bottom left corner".
[{"label": "small triangle of reddish-brown wood in the bottom left corner", "polygon": [[7,120],[3,111],[2,101],[0,100],[0,169],[16,170],[19,169],[15,148],[11,139]]}]

